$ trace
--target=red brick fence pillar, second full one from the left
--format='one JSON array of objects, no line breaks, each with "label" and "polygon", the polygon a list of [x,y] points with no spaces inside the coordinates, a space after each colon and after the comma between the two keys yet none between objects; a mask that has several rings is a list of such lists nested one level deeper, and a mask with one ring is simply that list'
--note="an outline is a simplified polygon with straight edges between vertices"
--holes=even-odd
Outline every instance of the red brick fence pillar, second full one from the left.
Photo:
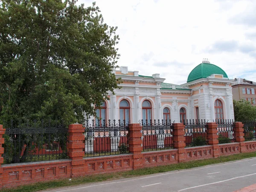
[{"label": "red brick fence pillar, second full one from the left", "polygon": [[129,124],[128,151],[133,154],[133,169],[143,167],[142,126],[139,123]]}]

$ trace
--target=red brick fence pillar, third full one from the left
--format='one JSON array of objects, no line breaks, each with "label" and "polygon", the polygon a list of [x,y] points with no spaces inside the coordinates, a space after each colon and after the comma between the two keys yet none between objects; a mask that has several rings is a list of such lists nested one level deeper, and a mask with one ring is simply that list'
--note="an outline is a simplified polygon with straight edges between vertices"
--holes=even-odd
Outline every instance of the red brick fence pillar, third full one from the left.
[{"label": "red brick fence pillar, third full one from the left", "polygon": [[185,143],[185,125],[183,123],[174,123],[173,130],[173,148],[178,149],[178,162],[186,160],[186,143]]}]

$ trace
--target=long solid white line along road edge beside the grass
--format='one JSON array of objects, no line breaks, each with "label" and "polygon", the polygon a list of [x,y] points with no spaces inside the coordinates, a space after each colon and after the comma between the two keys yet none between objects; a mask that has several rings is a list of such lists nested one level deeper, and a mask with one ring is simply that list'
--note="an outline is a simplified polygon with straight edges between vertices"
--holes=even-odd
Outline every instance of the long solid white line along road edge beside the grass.
[{"label": "long solid white line along road edge beside the grass", "polygon": [[124,182],[128,182],[128,181],[147,179],[147,178],[158,177],[158,176],[162,176],[162,175],[169,175],[169,174],[174,174],[174,173],[187,172],[187,171],[193,171],[193,170],[198,170],[198,169],[205,169],[205,168],[209,168],[209,167],[222,166],[222,165],[238,163],[238,162],[243,162],[243,161],[252,160],[252,159],[256,159],[256,158],[252,157],[252,158],[248,158],[248,159],[244,159],[244,160],[232,161],[230,163],[218,163],[218,164],[215,164],[215,165],[212,165],[212,166],[204,166],[204,167],[199,167],[199,168],[185,169],[185,170],[182,170],[182,171],[172,171],[172,172],[166,172],[166,173],[163,173],[163,174],[160,174],[160,175],[152,175],[152,176],[148,176],[148,177],[140,177],[140,178],[131,179],[131,180],[119,180],[119,181],[111,182],[111,183],[102,183],[102,184],[84,186],[84,187],[79,187],[79,188],[74,188],[74,189],[66,189],[66,190],[61,190],[61,191],[56,191],[56,192],[73,191],[73,190],[76,190],[76,189],[84,189],[84,188],[95,187],[95,186],[102,186],[102,185],[109,185],[109,184],[114,184],[114,183],[124,183]]}]

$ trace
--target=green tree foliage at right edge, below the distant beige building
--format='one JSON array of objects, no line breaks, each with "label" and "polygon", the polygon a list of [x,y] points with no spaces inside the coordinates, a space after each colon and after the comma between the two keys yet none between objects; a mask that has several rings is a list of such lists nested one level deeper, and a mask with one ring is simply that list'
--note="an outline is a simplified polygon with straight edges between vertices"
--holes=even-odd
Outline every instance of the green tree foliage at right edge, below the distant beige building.
[{"label": "green tree foliage at right edge, below the distant beige building", "polygon": [[253,120],[256,119],[256,107],[250,102],[241,99],[240,101],[233,100],[235,113],[235,121]]}]

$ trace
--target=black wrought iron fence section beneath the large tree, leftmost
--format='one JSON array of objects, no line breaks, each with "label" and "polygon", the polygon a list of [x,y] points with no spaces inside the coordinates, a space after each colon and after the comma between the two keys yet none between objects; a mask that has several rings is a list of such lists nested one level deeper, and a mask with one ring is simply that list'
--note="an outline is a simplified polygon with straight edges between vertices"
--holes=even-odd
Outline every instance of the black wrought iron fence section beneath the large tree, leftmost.
[{"label": "black wrought iron fence section beneath the large tree, leftmost", "polygon": [[6,128],[4,163],[67,158],[67,127],[54,122],[20,123]]}]

